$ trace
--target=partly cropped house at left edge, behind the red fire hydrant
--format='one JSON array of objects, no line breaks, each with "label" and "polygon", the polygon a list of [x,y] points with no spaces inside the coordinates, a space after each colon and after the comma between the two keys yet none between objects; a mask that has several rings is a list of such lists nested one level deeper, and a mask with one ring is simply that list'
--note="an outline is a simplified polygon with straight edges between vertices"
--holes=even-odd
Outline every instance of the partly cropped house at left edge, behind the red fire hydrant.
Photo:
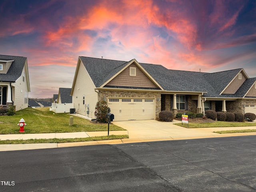
[{"label": "partly cropped house at left edge, behind the red fire hydrant", "polygon": [[28,107],[30,82],[26,57],[0,55],[0,106]]}]

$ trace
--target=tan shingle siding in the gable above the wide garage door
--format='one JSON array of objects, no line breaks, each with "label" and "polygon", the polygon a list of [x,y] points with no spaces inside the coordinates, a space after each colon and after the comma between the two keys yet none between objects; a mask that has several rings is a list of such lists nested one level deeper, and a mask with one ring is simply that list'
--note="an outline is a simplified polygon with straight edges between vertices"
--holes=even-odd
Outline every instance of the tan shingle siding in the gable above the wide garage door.
[{"label": "tan shingle siding in the gable above the wide garage door", "polygon": [[[130,76],[130,67],[136,68],[136,76]],[[134,63],[118,74],[106,86],[158,88]]]}]

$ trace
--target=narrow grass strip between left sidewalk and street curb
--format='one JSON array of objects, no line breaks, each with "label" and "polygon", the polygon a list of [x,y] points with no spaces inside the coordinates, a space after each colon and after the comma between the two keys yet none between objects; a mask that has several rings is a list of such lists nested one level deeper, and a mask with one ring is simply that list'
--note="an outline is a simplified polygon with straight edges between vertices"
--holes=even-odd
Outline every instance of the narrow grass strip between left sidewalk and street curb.
[{"label": "narrow grass strip between left sidewalk and street curb", "polygon": [[65,139],[28,139],[28,140],[0,140],[0,144],[34,144],[34,143],[70,143],[70,142],[83,142],[83,141],[100,141],[100,140],[115,140],[129,138],[128,135],[109,135],[109,136],[96,136],[87,138],[65,138]]}]

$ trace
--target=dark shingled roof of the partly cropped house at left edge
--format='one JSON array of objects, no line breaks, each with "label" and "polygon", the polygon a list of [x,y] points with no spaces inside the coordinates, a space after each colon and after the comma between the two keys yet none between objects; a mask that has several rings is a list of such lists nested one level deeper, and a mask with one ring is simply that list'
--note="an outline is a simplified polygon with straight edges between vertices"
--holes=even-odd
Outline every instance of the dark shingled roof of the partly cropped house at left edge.
[{"label": "dark shingled roof of the partly cropped house at left edge", "polygon": [[16,80],[21,76],[22,70],[24,68],[26,57],[20,56],[8,56],[0,55],[0,60],[14,60],[10,66],[7,74],[0,74],[0,81],[2,82],[16,82]]}]

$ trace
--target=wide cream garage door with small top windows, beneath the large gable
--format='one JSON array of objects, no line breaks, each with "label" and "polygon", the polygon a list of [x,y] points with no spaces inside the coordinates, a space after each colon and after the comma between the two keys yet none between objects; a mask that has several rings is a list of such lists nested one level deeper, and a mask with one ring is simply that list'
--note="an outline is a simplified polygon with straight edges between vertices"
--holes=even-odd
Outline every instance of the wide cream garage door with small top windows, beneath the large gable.
[{"label": "wide cream garage door with small top windows, beneath the large gable", "polygon": [[108,98],[108,107],[115,121],[148,120],[155,116],[152,98]]}]

